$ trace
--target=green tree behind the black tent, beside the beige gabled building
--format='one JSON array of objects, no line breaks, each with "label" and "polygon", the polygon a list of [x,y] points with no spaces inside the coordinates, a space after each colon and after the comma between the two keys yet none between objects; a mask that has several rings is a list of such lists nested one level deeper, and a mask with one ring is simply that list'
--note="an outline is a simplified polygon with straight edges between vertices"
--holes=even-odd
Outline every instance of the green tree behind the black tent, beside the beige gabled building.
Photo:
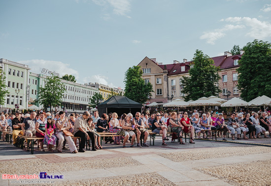
[{"label": "green tree behind the black tent, beside the beige gabled building", "polygon": [[125,72],[125,93],[124,95],[138,103],[145,103],[153,92],[152,84],[142,79],[142,70],[140,66],[133,66]]}]

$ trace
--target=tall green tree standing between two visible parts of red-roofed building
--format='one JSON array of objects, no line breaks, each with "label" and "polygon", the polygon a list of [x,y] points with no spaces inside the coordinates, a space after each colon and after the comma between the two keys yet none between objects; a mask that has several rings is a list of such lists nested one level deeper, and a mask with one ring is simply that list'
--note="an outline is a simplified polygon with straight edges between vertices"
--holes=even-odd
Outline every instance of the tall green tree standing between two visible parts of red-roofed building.
[{"label": "tall green tree standing between two visible parts of red-roofed building", "polygon": [[190,77],[183,76],[180,81],[184,86],[182,93],[185,94],[185,101],[197,100],[203,96],[216,96],[221,92],[218,87],[218,81],[221,79],[218,75],[220,68],[213,64],[208,55],[196,50],[190,64]]}]

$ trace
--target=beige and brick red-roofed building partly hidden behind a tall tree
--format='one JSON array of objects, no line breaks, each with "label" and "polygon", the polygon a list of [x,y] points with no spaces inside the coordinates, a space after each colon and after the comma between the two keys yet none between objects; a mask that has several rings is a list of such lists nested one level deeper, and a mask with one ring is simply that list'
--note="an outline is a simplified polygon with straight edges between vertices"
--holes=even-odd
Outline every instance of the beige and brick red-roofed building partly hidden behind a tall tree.
[{"label": "beige and brick red-roofed building partly hidden behind a tall tree", "polygon": [[[241,51],[240,55],[234,56],[229,52],[225,52],[222,56],[211,57],[214,60],[214,65],[220,66],[221,69],[218,74],[221,77],[219,87],[222,93],[218,96],[223,99],[227,98],[225,94],[228,91],[231,92],[229,99],[240,97],[237,88],[237,68],[239,67],[238,60],[240,60],[242,54],[243,51]],[[183,76],[189,76],[191,62],[183,59],[183,62],[174,60],[172,64],[163,64],[158,63],[156,58],[145,57],[137,66],[140,66],[143,71],[142,78],[146,83],[150,82],[155,91],[146,103],[167,103],[171,95],[173,95],[172,100],[183,99],[183,85],[180,83],[180,79]]]}]

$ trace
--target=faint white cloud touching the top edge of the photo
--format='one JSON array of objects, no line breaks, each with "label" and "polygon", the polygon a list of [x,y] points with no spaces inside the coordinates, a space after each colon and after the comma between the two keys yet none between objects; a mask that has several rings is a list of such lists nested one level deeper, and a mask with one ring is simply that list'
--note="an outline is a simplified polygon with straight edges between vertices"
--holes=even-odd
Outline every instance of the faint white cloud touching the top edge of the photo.
[{"label": "faint white cloud touching the top edge of the photo", "polygon": [[102,11],[105,12],[103,14],[107,15],[104,20],[108,20],[109,13],[108,7],[113,8],[113,13],[120,16],[126,16],[127,18],[131,18],[127,14],[131,11],[131,3],[130,0],[92,0],[95,4],[99,6],[103,6]]}]

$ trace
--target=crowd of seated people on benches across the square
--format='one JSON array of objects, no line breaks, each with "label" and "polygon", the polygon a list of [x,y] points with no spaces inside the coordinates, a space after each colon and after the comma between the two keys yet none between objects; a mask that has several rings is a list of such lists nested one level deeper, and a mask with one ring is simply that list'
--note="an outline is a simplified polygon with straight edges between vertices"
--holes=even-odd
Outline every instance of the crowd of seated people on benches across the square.
[{"label": "crowd of seated people on benches across the square", "polygon": [[[208,136],[204,135],[206,130],[209,136],[211,136],[210,130],[221,131],[222,140],[225,141],[227,141],[227,132],[231,134],[232,140],[236,139],[236,133],[237,139],[241,139],[241,135],[243,139],[262,138],[261,134],[268,138],[267,132],[271,136],[271,113],[265,111],[250,114],[240,110],[239,113],[233,112],[226,123],[223,112],[199,113],[197,110],[151,114],[136,112],[135,116],[132,113],[118,116],[116,112],[113,112],[108,115],[103,113],[101,117],[98,111],[95,111],[93,115],[85,111],[80,115],[71,113],[68,116],[64,111],[57,112],[55,115],[50,112],[37,114],[32,111],[23,114],[16,111],[15,115],[0,115],[0,131],[4,132],[8,129],[12,132],[14,146],[17,146],[18,135],[36,136],[44,138],[37,141],[40,151],[45,151],[43,146],[46,145],[49,152],[61,153],[62,150],[69,149],[71,153],[77,153],[85,152],[85,144],[89,139],[93,151],[102,149],[101,133],[116,134],[119,131],[124,131],[124,136],[104,137],[105,143],[113,142],[120,145],[123,140],[123,147],[126,148],[128,141],[131,143],[130,147],[135,147],[136,140],[136,147],[141,147],[141,145],[148,147],[146,144],[150,132],[148,130],[162,135],[163,146],[168,145],[166,143],[169,140],[168,133],[172,134],[171,142],[178,138],[180,144],[185,144],[182,140],[183,133],[189,133],[189,142],[195,143],[194,133],[197,133],[198,138],[201,138],[201,133],[203,133],[203,138],[207,138]],[[72,136],[74,136],[73,139]],[[76,145],[77,137],[80,137],[79,146]],[[143,144],[140,144],[140,139]],[[66,143],[68,143],[68,148],[66,148]]]}]

